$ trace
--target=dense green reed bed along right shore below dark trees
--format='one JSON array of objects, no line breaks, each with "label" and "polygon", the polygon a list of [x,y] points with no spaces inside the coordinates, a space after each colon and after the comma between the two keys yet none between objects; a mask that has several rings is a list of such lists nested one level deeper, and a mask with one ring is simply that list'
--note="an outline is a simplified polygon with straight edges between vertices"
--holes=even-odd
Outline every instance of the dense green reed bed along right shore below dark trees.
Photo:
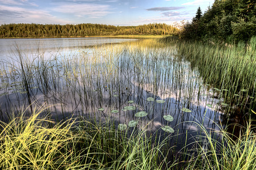
[{"label": "dense green reed bed along right shore below dark trees", "polygon": [[249,44],[217,45],[200,41],[166,42],[178,49],[178,55],[191,62],[205,84],[220,90],[220,97],[235,114],[256,107],[256,37]]}]

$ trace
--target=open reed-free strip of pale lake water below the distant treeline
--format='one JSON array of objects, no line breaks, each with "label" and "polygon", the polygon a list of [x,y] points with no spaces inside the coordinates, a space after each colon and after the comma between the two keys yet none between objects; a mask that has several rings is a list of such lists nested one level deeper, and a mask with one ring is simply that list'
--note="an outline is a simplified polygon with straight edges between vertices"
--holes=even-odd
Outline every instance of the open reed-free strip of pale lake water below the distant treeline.
[{"label": "open reed-free strip of pale lake water below the distant treeline", "polygon": [[18,56],[17,48],[28,56],[44,53],[45,56],[69,54],[93,45],[135,41],[135,39],[110,39],[102,37],[60,39],[0,39],[0,60]]}]

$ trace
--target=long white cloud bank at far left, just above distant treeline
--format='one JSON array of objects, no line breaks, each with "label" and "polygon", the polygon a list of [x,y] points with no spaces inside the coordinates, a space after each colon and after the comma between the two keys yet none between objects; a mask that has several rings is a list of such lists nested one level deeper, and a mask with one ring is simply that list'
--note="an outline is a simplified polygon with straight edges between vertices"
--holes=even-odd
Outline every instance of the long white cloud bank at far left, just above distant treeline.
[{"label": "long white cloud bank at far left, just above distant treeline", "polygon": [[58,19],[45,10],[30,10],[22,7],[0,5],[0,24],[7,23],[71,23],[68,20]]}]

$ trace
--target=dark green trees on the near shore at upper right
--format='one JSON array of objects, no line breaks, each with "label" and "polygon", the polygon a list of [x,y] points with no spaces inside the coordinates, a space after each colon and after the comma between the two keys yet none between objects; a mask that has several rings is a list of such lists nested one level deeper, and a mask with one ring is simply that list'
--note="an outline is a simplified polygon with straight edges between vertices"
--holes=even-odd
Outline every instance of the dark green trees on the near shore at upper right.
[{"label": "dark green trees on the near shore at upper right", "polygon": [[[201,13],[202,14],[202,13]],[[248,41],[256,35],[256,0],[215,0],[200,15],[200,7],[191,23],[184,25],[185,39]]]}]

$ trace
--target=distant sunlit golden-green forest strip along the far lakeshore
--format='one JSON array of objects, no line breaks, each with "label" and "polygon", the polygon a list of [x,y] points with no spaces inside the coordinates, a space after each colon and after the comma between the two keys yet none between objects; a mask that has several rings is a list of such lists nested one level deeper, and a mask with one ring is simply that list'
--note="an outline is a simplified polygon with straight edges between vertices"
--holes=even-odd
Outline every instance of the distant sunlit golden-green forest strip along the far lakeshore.
[{"label": "distant sunlit golden-green forest strip along the far lakeshore", "polygon": [[112,35],[175,35],[178,28],[167,24],[114,26],[104,24],[3,24],[0,37],[83,37]]}]

